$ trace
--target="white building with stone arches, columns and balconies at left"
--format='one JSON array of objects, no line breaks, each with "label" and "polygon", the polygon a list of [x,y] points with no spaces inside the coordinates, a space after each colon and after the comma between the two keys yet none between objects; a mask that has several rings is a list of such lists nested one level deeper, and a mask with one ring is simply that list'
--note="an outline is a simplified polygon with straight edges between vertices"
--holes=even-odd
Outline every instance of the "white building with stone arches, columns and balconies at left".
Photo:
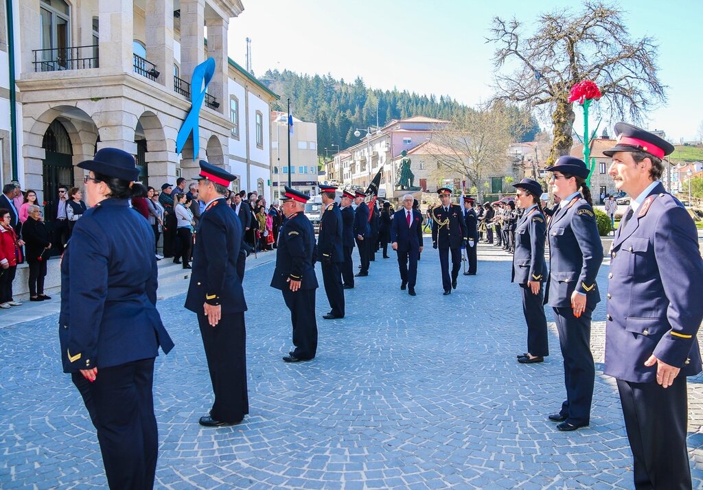
[{"label": "white building with stone arches, columns and balconies at left", "polygon": [[[16,79],[0,70],[2,181],[15,174],[50,205],[59,185],[82,186],[78,162],[114,147],[134,154],[141,181],[155,188],[193,178],[198,160],[208,160],[238,176],[236,190],[270,199],[268,115],[278,96],[228,57],[229,25],[243,10],[240,0],[14,0],[12,12],[0,8],[0,25],[11,15],[14,27],[11,39],[0,30],[0,66],[13,58]],[[207,58],[215,70],[202,94],[190,82]],[[200,148],[191,136],[177,154],[198,94]]]}]

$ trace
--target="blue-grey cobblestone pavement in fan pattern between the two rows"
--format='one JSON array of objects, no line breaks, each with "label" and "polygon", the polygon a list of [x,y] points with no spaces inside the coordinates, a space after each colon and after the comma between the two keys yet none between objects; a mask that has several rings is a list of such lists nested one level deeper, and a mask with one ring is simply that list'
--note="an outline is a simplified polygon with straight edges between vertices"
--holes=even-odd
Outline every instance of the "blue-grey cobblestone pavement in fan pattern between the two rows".
[{"label": "blue-grey cobblestone pavement in fan pattern between the two rows", "polygon": [[[446,297],[431,247],[417,297],[399,289],[394,253],[377,257],[345,291],[346,318],[322,320],[318,290],[320,344],[309,363],[281,361],[290,318],[269,288],[273,264],[247,271],[250,415],[235,427],[198,425],[212,394],[195,316],[183,309],[186,283],[159,303],[176,348],[156,363],[157,488],[632,488],[617,388],[602,375],[602,321],[591,426],[558,432],[546,420],[565,396],[555,329],[545,363],[515,361],[526,328],[508,254],[482,245],[478,275],[460,275]],[[606,275],[607,264],[602,289]],[[601,303],[594,318],[604,316]],[[57,321],[0,328],[4,489],[106,484],[93,427],[61,373]],[[691,468],[703,488],[703,377],[689,387]]]}]

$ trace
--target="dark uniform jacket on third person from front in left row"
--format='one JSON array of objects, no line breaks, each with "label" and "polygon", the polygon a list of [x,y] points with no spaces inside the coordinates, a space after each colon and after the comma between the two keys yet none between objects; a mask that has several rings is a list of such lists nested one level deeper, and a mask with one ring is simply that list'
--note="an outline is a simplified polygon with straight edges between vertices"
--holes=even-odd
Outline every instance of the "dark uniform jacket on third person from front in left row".
[{"label": "dark uniform jacket on third person from front in left row", "polygon": [[271,288],[288,289],[288,279],[302,281],[301,289],[317,289],[315,230],[303,212],[288,217],[278,232],[276,270]]}]

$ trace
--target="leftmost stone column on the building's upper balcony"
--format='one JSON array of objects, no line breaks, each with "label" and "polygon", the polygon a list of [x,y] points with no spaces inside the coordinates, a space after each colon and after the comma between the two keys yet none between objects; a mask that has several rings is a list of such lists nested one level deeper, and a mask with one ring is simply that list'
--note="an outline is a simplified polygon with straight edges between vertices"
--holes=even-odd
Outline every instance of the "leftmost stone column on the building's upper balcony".
[{"label": "leftmost stone column on the building's upper balcony", "polygon": [[98,0],[100,67],[134,71],[134,0]]}]

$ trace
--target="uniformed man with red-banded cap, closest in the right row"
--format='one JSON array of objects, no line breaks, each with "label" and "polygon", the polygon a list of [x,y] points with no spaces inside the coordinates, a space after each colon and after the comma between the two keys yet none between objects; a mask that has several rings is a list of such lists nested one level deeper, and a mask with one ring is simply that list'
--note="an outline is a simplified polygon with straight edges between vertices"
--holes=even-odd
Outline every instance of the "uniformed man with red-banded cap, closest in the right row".
[{"label": "uniformed man with red-banded cap, closest in the right row", "polygon": [[615,124],[608,174],[631,204],[610,248],[605,369],[617,380],[637,489],[690,489],[686,377],[701,372],[703,259],[688,211],[659,182],[673,146]]}]

